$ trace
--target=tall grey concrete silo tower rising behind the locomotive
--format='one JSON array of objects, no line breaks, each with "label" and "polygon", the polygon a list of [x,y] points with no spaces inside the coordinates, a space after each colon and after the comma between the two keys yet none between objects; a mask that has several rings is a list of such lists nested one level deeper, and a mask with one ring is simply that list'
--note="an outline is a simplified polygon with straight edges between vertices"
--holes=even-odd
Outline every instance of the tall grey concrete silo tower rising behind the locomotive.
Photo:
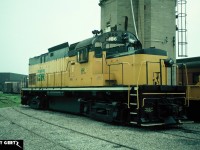
[{"label": "tall grey concrete silo tower rising behind the locomotive", "polygon": [[143,48],[167,50],[176,59],[175,0],[100,0],[101,29],[135,33]]}]

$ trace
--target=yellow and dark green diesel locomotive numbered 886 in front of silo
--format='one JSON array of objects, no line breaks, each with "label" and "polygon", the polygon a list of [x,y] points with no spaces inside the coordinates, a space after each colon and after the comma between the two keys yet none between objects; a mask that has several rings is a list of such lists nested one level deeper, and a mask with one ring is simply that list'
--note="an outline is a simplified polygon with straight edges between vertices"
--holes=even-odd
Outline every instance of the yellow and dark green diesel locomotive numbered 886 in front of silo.
[{"label": "yellow and dark green diesel locomotive numbered 886 in front of silo", "polygon": [[102,33],[30,58],[21,103],[106,122],[179,124],[186,88],[168,85],[172,65],[166,51],[143,49],[130,32]]}]

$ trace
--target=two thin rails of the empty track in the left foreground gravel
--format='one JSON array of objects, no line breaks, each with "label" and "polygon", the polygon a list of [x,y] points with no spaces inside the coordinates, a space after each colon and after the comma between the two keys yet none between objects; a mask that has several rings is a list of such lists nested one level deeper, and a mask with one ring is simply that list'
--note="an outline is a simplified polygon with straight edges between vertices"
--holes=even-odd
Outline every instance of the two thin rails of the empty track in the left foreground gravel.
[{"label": "two thin rails of the empty track in the left foreground gravel", "polygon": [[[133,147],[130,147],[130,146],[127,146],[127,145],[123,145],[123,144],[120,144],[120,143],[116,143],[116,142],[113,142],[113,141],[110,141],[110,140],[107,140],[107,139],[104,139],[104,138],[101,138],[101,137],[97,137],[97,136],[94,136],[94,135],[90,135],[90,134],[88,134],[88,133],[80,132],[80,131],[77,131],[77,130],[74,130],[74,129],[71,129],[71,128],[68,128],[68,127],[64,127],[64,126],[61,126],[61,125],[58,125],[58,124],[55,124],[55,123],[52,123],[52,122],[43,120],[43,119],[41,119],[41,118],[37,118],[37,117],[34,117],[34,116],[32,116],[32,115],[26,114],[26,113],[24,113],[24,112],[22,112],[22,111],[20,111],[20,110],[18,110],[18,109],[16,109],[16,108],[13,108],[13,107],[12,107],[12,109],[13,109],[14,111],[20,113],[20,114],[23,114],[23,115],[25,115],[25,116],[27,116],[27,117],[30,117],[30,118],[32,118],[32,119],[39,120],[39,121],[41,121],[41,122],[43,122],[43,123],[46,123],[46,124],[49,124],[49,125],[52,125],[52,126],[55,126],[55,127],[61,128],[61,129],[64,129],[64,130],[72,131],[72,132],[77,133],[77,134],[80,134],[80,135],[82,135],[82,136],[87,136],[87,137],[89,137],[89,138],[93,138],[93,139],[97,139],[97,140],[100,140],[100,141],[104,141],[104,142],[109,143],[109,144],[113,144],[113,145],[114,145],[114,146],[113,146],[114,148],[126,148],[126,149],[134,150]],[[0,115],[0,116],[2,116],[2,115]],[[2,116],[2,117],[4,117],[4,116]],[[5,117],[4,117],[4,118],[5,118]],[[5,119],[6,119],[6,118],[5,118]],[[12,120],[9,120],[9,121],[13,122]],[[15,122],[13,122],[13,123],[15,123]],[[43,137],[43,136],[41,136],[41,135],[39,135],[39,134],[37,134],[37,133],[35,133],[35,132],[29,130],[29,129],[26,128],[26,127],[23,127],[23,126],[21,126],[21,125],[19,125],[19,124],[17,124],[17,123],[15,123],[15,124],[18,125],[18,126],[20,126],[20,127],[22,127],[22,128],[24,128],[25,130],[27,130],[27,131],[33,133],[33,134],[36,134],[37,136],[40,136],[40,137],[42,137],[42,138],[44,138],[44,139],[46,139],[46,140],[52,142],[52,140],[50,140],[50,139],[48,139],[48,138],[46,138],[46,137]],[[53,142],[54,142],[54,141],[53,141]],[[54,143],[55,143],[55,142],[54,142]],[[61,145],[61,144],[59,144],[59,143],[55,143],[55,144],[60,145],[60,146],[63,147],[63,148],[69,149],[69,148],[67,148],[67,147],[65,147],[65,146],[63,146],[63,145]],[[135,150],[136,150],[136,149],[135,149]]]}]

